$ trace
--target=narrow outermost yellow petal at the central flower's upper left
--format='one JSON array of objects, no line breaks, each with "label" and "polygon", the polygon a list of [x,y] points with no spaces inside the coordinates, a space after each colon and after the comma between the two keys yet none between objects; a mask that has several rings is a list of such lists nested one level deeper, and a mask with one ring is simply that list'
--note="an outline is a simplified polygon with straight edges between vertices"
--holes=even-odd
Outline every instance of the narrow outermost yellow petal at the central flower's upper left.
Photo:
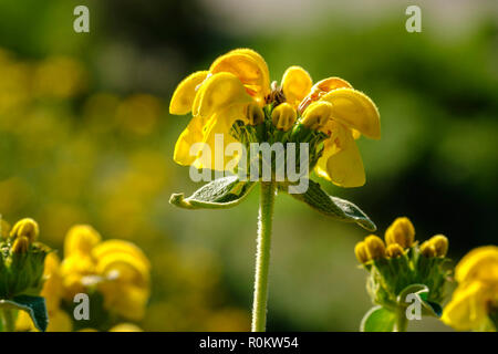
[{"label": "narrow outermost yellow petal at the central flower's upper left", "polygon": [[208,71],[198,71],[178,84],[169,103],[170,114],[183,115],[190,112],[198,90],[197,86],[206,80],[208,74]]}]

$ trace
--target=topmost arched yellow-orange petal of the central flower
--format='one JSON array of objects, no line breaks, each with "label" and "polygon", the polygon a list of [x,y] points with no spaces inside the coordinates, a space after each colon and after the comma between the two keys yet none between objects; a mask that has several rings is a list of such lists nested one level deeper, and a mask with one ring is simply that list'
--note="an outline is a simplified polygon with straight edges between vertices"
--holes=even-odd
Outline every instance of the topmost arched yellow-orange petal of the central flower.
[{"label": "topmost arched yellow-orange petal of the central flower", "polygon": [[209,67],[212,74],[232,73],[262,104],[270,90],[270,73],[264,59],[250,49],[236,49],[219,56]]}]

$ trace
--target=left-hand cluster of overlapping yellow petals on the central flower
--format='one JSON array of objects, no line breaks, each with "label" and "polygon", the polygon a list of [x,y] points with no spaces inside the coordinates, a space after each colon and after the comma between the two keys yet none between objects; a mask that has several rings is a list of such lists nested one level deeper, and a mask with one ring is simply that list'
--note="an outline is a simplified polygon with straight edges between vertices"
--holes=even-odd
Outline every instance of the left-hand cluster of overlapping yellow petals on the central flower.
[{"label": "left-hand cluster of overlapping yellow petals on the central flower", "polygon": [[[196,143],[205,143],[214,154],[215,134],[224,134],[225,144],[237,140],[229,134],[236,121],[248,123],[247,110],[251,103],[260,107],[269,93],[270,79],[264,60],[252,50],[238,49],[218,58],[209,71],[199,71],[185,79],[176,88],[169,104],[169,113],[184,115],[193,112],[193,118],[179,136],[174,159],[180,165],[212,168],[203,154],[190,155]],[[215,165],[224,170],[227,160]]]}]

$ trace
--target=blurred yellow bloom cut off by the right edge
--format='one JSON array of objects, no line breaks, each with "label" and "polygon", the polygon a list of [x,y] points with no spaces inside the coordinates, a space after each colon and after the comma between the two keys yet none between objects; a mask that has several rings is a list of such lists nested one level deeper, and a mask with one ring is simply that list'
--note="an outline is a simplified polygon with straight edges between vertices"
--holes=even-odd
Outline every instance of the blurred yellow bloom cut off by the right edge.
[{"label": "blurred yellow bloom cut off by the right edge", "polygon": [[458,288],[444,309],[443,322],[458,331],[486,329],[489,315],[498,311],[498,247],[471,250],[457,264],[455,279]]}]

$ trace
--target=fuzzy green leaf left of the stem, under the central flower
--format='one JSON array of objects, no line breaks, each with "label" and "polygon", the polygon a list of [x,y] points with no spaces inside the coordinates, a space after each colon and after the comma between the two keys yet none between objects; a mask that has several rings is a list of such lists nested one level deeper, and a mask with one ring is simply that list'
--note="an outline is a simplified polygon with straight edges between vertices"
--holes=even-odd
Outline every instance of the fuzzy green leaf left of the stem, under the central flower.
[{"label": "fuzzy green leaf left of the stem, under the central flower", "polygon": [[197,189],[190,197],[173,194],[169,202],[185,209],[231,208],[241,202],[255,186],[251,181],[240,181],[238,176],[218,178]]}]

